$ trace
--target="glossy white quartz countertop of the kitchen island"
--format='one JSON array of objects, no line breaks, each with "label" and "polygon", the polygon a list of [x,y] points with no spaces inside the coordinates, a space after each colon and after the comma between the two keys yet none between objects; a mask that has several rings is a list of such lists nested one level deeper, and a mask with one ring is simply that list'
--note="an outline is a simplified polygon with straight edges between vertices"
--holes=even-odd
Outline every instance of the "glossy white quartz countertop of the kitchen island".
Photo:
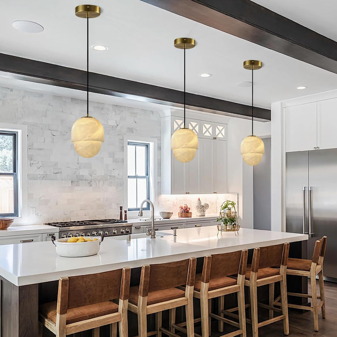
[{"label": "glossy white quartz countertop of the kitchen island", "polygon": [[177,237],[160,237],[160,232],[156,235],[156,239],[140,235],[130,242],[126,238],[123,240],[119,237],[106,237],[100,252],[88,257],[58,256],[50,241],[1,245],[0,276],[20,286],[57,280],[65,276],[100,273],[125,266],[135,268],[144,264],[179,261],[192,256],[202,257],[308,239],[304,234],[247,228],[241,228],[238,236],[235,233],[217,236],[216,226],[178,229]]}]

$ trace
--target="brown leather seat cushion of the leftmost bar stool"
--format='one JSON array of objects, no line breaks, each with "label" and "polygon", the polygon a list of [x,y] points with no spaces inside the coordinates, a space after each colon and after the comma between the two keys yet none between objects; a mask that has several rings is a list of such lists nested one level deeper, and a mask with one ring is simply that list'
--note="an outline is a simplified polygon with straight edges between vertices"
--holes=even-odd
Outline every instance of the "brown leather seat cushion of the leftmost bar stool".
[{"label": "brown leather seat cushion of the leftmost bar stool", "polygon": [[[44,303],[39,306],[39,312],[56,323],[56,302]],[[81,320],[95,318],[118,312],[118,305],[104,301],[96,304],[67,310],[66,324],[79,322]]]}]

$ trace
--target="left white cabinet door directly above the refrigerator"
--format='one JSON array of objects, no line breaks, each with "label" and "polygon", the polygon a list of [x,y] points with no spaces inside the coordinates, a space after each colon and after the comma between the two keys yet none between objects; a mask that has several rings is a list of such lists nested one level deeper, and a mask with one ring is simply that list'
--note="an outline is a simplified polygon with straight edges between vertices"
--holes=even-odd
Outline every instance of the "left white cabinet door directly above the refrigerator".
[{"label": "left white cabinet door directly above the refrigerator", "polygon": [[317,147],[317,103],[289,106],[285,111],[285,151]]}]

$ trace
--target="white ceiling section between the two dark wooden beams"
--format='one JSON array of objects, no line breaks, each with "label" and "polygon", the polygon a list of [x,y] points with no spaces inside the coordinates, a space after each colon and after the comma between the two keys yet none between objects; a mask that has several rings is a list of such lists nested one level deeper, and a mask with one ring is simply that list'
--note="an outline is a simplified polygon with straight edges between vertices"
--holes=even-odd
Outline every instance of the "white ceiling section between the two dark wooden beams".
[{"label": "white ceiling section between the two dark wooden beams", "polygon": [[[58,0],[57,6],[45,0],[6,2],[0,52],[86,69],[86,22],[74,15],[78,4],[78,0]],[[90,45],[105,44],[109,50],[90,50],[90,71],[182,90],[183,52],[174,48],[173,40],[187,36],[196,40],[196,47],[186,51],[188,92],[250,104],[251,88],[238,86],[251,79],[242,67],[246,59],[261,59],[264,65],[254,72],[257,106],[270,108],[274,101],[337,88],[334,73],[142,1],[100,0],[97,4],[101,16],[89,22]],[[11,26],[15,20],[37,22],[44,31],[17,31]],[[213,76],[201,78],[202,72]],[[298,86],[308,88],[297,90]]]}]

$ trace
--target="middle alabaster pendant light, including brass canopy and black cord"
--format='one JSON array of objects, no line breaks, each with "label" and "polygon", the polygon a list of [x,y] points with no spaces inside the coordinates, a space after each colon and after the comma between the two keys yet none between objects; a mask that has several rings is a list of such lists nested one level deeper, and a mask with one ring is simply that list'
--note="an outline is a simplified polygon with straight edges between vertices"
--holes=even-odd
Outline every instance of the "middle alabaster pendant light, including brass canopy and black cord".
[{"label": "middle alabaster pendant light, including brass canopy and black cord", "polygon": [[171,149],[174,157],[182,163],[191,161],[195,152],[198,149],[198,137],[194,131],[186,128],[186,49],[191,49],[195,46],[194,39],[188,37],[180,37],[174,40],[174,46],[184,50],[184,127],[176,130],[171,138]]}]

